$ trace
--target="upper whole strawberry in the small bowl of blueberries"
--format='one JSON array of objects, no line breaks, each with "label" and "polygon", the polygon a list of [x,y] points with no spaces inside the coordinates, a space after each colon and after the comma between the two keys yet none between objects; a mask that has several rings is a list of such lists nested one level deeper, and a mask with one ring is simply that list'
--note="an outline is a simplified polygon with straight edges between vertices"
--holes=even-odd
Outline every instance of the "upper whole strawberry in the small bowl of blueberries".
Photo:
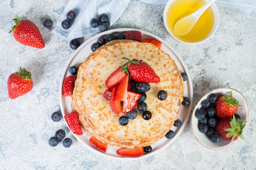
[{"label": "upper whole strawberry in the small bowl of blueberries", "polygon": [[216,102],[216,115],[221,119],[230,118],[236,113],[238,106],[241,105],[238,100],[232,98],[232,92],[229,96],[220,96]]}]

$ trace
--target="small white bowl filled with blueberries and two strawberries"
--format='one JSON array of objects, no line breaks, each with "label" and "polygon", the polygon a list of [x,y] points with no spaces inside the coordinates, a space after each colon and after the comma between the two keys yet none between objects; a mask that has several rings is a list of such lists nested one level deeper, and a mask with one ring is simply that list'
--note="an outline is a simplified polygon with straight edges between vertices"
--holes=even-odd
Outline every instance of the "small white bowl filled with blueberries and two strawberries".
[{"label": "small white bowl filled with blueberries and two strawberries", "polygon": [[222,149],[245,139],[243,131],[249,116],[243,94],[231,88],[214,89],[198,101],[191,115],[191,128],[200,144]]}]

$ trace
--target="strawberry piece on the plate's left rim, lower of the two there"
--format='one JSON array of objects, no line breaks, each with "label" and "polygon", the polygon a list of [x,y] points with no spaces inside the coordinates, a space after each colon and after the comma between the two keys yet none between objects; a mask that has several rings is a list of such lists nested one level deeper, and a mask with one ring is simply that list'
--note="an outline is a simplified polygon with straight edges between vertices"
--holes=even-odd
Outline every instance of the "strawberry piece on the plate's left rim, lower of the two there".
[{"label": "strawberry piece on the plate's left rim, lower of the two there", "polygon": [[76,111],[64,116],[70,130],[76,135],[83,135],[83,131],[79,122],[78,114]]}]

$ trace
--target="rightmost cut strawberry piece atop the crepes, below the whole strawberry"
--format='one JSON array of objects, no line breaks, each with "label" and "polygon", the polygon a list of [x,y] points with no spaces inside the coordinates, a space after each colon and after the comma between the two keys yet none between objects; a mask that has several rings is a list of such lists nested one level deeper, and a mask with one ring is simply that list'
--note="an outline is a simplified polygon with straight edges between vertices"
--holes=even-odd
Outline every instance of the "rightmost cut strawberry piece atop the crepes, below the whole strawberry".
[{"label": "rightmost cut strawberry piece atop the crepes, below the whole strawberry", "polygon": [[135,92],[127,92],[128,97],[127,100],[124,101],[123,104],[123,113],[127,113],[131,111],[132,109],[137,107],[137,101],[139,100],[139,97],[141,94],[135,93]]}]

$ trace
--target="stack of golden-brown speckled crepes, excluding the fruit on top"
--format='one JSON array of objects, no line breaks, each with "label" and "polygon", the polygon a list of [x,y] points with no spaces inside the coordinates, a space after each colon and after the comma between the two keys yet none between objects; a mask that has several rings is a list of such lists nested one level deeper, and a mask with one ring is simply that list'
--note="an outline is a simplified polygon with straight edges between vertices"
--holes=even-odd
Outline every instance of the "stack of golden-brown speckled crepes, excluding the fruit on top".
[{"label": "stack of golden-brown speckled crepes, excluding the fruit on top", "polygon": [[[119,124],[109,100],[103,98],[107,89],[108,76],[127,61],[137,59],[148,63],[160,77],[159,83],[150,83],[146,92],[150,120],[144,120],[141,112],[126,126]],[[165,90],[165,100],[159,100],[157,93]],[[72,92],[72,110],[77,111],[83,130],[103,143],[125,148],[149,146],[171,129],[183,101],[184,84],[174,60],[163,50],[150,43],[132,40],[114,40],[92,52],[79,65],[74,90]]]}]

